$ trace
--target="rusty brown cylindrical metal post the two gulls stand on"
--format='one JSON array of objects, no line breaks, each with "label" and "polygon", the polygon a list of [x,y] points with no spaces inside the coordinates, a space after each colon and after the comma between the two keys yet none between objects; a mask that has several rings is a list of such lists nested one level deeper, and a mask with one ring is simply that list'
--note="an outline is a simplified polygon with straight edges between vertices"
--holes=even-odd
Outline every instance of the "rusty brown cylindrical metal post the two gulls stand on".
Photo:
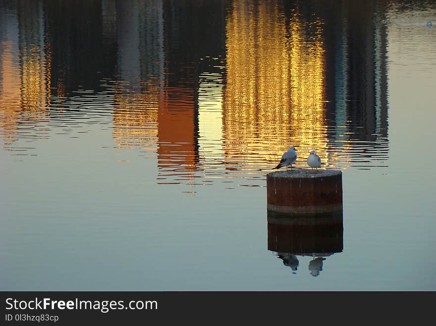
[{"label": "rusty brown cylindrical metal post the two gulls stand on", "polygon": [[322,214],[342,210],[342,172],[294,169],[267,174],[267,208],[277,213]]}]

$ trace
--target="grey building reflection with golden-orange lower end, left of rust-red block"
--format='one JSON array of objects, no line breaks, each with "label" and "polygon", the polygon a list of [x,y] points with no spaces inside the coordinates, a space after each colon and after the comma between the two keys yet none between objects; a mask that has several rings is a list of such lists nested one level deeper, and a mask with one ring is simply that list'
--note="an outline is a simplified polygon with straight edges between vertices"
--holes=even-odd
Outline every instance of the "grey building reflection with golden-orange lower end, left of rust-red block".
[{"label": "grey building reflection with golden-orange lower end, left of rust-red block", "polygon": [[[117,75],[113,87],[113,139],[119,147],[156,150],[163,102],[163,7],[161,1],[105,1],[111,35],[116,28]],[[109,24],[117,21],[116,26]]]}]

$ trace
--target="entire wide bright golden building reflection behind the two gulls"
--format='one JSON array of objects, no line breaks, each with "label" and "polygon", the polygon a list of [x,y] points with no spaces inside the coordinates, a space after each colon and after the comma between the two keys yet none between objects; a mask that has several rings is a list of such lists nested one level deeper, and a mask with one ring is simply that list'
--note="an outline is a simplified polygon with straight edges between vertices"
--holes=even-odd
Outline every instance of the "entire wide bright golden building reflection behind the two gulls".
[{"label": "entire wide bright golden building reflection behind the two gulls", "polygon": [[226,158],[247,161],[255,152],[250,166],[265,166],[291,145],[284,139],[297,148],[327,148],[322,22],[306,22],[298,10],[288,21],[275,1],[233,2],[226,21]]}]

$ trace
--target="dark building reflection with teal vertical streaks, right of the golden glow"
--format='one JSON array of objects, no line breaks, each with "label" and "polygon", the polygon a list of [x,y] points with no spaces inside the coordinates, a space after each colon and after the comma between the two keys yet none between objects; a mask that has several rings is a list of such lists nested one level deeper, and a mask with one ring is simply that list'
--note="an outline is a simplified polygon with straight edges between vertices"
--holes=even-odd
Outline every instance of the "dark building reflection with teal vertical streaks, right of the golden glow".
[{"label": "dark building reflection with teal vertical streaks, right of the golden glow", "polygon": [[[326,27],[335,31],[336,42],[331,42],[332,35],[326,35],[326,39],[329,44],[337,44],[329,49],[329,56],[335,60],[335,93],[331,98],[347,103],[345,110],[335,108],[336,122],[352,122],[348,124],[350,131],[360,140],[374,141],[377,135],[387,135],[385,6],[383,1],[347,2],[326,17]],[[334,26],[337,20],[342,24]]]}]

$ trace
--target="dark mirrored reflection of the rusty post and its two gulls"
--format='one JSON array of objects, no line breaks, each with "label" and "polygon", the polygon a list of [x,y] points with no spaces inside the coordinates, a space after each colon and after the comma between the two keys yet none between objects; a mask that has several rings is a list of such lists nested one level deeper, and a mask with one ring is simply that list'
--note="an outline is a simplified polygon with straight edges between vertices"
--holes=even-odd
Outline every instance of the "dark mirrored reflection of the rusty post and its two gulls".
[{"label": "dark mirrored reflection of the rusty post and its two gulls", "polygon": [[312,276],[320,275],[323,261],[343,250],[343,211],[327,214],[277,213],[268,210],[268,250],[277,253],[283,264],[296,274],[297,256],[308,256]]}]

